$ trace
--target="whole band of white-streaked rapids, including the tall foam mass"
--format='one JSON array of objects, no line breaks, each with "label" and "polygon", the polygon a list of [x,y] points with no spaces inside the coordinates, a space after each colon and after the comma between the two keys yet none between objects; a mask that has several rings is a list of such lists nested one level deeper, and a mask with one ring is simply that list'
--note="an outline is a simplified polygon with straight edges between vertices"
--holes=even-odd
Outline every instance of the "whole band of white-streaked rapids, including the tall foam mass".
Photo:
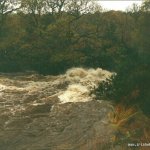
[{"label": "whole band of white-streaked rapids, including the tall foam mass", "polygon": [[111,75],[101,68],[71,68],[58,76],[3,74],[0,75],[0,110],[15,114],[29,106],[43,105],[53,97],[60,104],[91,101],[95,96],[91,91]]}]

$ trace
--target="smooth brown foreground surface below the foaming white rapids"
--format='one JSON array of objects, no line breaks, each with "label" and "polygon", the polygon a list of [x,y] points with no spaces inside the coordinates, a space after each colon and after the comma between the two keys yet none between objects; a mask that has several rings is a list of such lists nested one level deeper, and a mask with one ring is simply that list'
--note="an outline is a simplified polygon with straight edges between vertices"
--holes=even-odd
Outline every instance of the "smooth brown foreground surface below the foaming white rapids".
[{"label": "smooth brown foreground surface below the foaming white rapids", "polygon": [[[44,107],[45,111],[41,111]],[[110,145],[114,131],[108,122],[107,115],[112,111],[109,104],[90,101],[41,108],[27,109],[3,124],[2,150],[93,150],[93,146]]]}]

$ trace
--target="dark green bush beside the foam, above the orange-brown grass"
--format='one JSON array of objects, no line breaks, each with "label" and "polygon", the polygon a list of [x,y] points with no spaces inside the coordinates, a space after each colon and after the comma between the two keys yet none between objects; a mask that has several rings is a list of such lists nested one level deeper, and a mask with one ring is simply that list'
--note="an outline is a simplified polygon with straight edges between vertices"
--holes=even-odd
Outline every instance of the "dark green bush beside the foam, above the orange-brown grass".
[{"label": "dark green bush beside the foam, above the orange-brown grass", "polygon": [[95,91],[97,98],[113,100],[126,107],[136,105],[145,114],[150,115],[150,70],[140,62],[140,58],[132,61],[132,64],[127,60],[118,70],[117,75],[99,85]]}]

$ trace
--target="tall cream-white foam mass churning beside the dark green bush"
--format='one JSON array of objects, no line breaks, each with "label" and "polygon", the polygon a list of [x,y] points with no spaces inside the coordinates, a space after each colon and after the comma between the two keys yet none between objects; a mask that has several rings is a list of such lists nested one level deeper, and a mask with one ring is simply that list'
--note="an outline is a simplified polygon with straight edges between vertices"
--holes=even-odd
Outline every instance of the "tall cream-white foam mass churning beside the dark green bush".
[{"label": "tall cream-white foam mass churning beside the dark green bush", "polygon": [[97,69],[72,68],[66,72],[66,81],[69,82],[68,88],[59,95],[61,103],[67,102],[86,102],[93,99],[90,96],[91,90],[98,84],[112,75],[111,72]]}]

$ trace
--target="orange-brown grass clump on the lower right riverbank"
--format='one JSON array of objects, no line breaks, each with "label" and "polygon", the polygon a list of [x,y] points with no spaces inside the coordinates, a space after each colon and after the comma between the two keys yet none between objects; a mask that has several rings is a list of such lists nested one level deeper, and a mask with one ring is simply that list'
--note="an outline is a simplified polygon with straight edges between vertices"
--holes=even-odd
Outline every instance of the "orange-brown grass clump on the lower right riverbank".
[{"label": "orange-brown grass clump on the lower right riverbank", "polygon": [[[115,106],[109,114],[110,123],[116,130],[112,138],[114,145],[127,146],[128,143],[150,143],[150,118],[135,107]],[[139,146],[139,150],[149,147]]]}]

